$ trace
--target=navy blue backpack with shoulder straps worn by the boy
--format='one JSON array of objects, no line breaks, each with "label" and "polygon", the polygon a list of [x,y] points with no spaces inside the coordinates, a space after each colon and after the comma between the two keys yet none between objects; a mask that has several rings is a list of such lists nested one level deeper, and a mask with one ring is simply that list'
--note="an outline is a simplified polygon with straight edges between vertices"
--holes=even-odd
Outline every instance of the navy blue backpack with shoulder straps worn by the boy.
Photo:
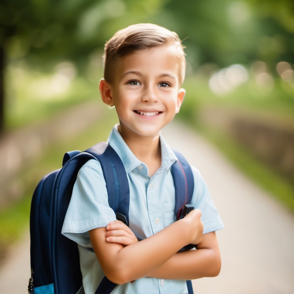
[{"label": "navy blue backpack with shoulder straps worn by the boy", "polygon": [[[186,159],[176,153],[179,161],[172,166],[176,191],[175,214],[184,217],[193,207],[191,202],[194,180]],[[117,153],[101,142],[84,152],[65,153],[63,167],[46,175],[37,185],[30,213],[31,294],[76,294],[82,286],[77,244],[61,234],[65,214],[79,169],[90,159],[99,160],[106,181],[109,206],[118,220],[129,224],[130,190],[126,171]],[[188,250],[195,245],[188,245]],[[193,293],[187,281],[189,294]],[[109,294],[116,284],[103,278],[95,294]]]}]

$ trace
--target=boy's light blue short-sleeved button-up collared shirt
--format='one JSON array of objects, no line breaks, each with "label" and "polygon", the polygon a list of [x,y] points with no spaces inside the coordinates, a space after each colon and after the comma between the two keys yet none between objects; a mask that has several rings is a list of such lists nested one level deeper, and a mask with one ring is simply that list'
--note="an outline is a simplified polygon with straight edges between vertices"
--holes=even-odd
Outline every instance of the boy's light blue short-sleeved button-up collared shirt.
[{"label": "boy's light blue short-sleeved button-up collared shirt", "polygon": [[[113,128],[108,138],[110,146],[118,153],[126,169],[130,186],[130,228],[138,240],[150,237],[176,221],[174,215],[175,189],[171,165],[177,160],[168,144],[160,136],[161,167],[153,177],[148,175],[146,164],[131,152],[117,130]],[[191,204],[202,211],[203,233],[223,228],[223,223],[199,171],[192,166],[194,192]],[[95,293],[104,277],[95,256],[88,231],[106,227],[116,220],[108,205],[106,184],[98,161],[88,161],[78,172],[62,233],[78,243],[83,288],[86,294]],[[168,244],[167,244],[168,246]],[[142,254],[144,254],[142,252]],[[133,283],[118,285],[112,294],[186,294],[186,281],[141,278]]]}]

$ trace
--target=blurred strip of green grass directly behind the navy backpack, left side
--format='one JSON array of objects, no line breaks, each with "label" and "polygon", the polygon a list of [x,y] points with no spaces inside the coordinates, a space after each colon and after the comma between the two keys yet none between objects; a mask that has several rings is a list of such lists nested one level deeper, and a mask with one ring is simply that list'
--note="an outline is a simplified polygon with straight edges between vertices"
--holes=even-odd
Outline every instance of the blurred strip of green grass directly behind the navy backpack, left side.
[{"label": "blurred strip of green grass directly behind the navy backpack, left side", "polygon": [[63,154],[69,150],[85,150],[100,141],[106,141],[117,118],[114,111],[108,110],[98,123],[88,128],[82,135],[65,142],[50,146],[44,155],[31,166],[27,166],[18,175],[24,188],[24,196],[5,209],[0,210],[0,250],[16,241],[29,225],[31,197],[34,188],[43,176],[62,165]]}]

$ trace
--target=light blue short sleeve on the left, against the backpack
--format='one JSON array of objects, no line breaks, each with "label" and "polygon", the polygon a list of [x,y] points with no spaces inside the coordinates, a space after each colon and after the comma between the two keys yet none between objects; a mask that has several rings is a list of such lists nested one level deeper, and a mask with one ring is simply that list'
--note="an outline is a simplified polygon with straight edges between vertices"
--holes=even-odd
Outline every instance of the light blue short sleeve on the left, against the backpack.
[{"label": "light blue short sleeve on the left, against the backpack", "polygon": [[89,230],[106,227],[116,220],[109,207],[101,165],[86,162],[78,172],[61,233],[76,243],[92,247]]}]

